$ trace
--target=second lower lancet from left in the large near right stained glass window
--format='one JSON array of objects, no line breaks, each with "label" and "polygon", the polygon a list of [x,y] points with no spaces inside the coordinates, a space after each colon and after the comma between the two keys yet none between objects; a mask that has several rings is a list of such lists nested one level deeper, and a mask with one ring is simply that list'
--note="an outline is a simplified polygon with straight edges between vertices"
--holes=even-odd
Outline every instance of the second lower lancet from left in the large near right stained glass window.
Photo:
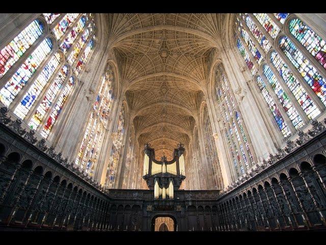
[{"label": "second lower lancet from left in the large near right stained glass window", "polygon": [[298,129],[303,126],[304,122],[302,118],[294,108],[292,102],[288,94],[283,90],[282,86],[280,85],[279,81],[275,77],[273,71],[268,67],[268,65],[263,66],[264,75],[266,76],[270,86],[274,89],[276,95],[278,96],[285,112],[289,116],[290,120],[292,121],[293,126]]}]

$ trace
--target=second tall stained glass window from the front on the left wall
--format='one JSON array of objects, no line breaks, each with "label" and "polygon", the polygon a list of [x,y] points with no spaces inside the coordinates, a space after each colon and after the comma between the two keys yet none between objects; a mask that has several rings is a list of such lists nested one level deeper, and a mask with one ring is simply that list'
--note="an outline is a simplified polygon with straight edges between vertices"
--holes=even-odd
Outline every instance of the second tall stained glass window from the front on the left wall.
[{"label": "second tall stained glass window from the front on the left wall", "polygon": [[101,78],[101,84],[93,104],[86,131],[75,164],[90,176],[97,164],[98,154],[102,146],[105,128],[108,124],[108,115],[112,109],[114,74],[110,65]]}]

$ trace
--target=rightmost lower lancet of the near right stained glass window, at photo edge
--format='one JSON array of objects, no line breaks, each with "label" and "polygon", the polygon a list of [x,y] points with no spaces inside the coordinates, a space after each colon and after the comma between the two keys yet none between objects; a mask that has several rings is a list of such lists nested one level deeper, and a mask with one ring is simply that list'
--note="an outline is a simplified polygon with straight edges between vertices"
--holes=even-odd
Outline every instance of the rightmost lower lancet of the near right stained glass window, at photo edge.
[{"label": "rightmost lower lancet of the near right stained glass window, at photo edge", "polygon": [[326,43],[310,27],[300,19],[292,19],[289,23],[290,33],[315,57],[326,69]]}]

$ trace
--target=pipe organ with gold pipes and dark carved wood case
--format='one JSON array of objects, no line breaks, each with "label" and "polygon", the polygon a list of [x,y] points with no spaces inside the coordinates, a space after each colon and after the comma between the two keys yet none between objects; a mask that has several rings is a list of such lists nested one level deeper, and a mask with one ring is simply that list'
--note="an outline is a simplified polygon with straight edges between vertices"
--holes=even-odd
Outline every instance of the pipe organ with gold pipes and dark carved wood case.
[{"label": "pipe organ with gold pipes and dark carved wood case", "polygon": [[168,161],[166,156],[157,161],[154,149],[150,148],[150,144],[145,144],[143,179],[149,189],[154,189],[155,199],[173,199],[174,190],[178,190],[185,179],[183,156],[185,149],[181,143],[177,146],[171,161]]}]

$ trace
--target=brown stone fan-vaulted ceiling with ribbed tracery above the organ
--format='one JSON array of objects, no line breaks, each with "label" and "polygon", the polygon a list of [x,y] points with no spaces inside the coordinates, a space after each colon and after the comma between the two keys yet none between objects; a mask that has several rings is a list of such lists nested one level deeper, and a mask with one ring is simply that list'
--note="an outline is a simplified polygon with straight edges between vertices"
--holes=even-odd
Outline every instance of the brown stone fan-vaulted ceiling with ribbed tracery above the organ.
[{"label": "brown stone fan-vaulted ceiling with ribbed tracery above the organ", "polygon": [[221,47],[223,14],[110,14],[121,86],[140,145],[171,159],[191,140],[207,83],[207,57]]}]

